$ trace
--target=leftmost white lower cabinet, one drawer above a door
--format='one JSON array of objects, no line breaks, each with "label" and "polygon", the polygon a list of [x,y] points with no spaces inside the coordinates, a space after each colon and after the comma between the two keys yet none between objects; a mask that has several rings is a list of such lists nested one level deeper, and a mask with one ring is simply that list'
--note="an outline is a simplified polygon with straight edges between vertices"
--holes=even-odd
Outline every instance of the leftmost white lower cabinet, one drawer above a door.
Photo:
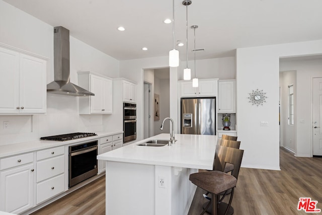
[{"label": "leftmost white lower cabinet, one drawer above a door", "polygon": [[0,160],[0,210],[21,213],[33,207],[33,153]]}]

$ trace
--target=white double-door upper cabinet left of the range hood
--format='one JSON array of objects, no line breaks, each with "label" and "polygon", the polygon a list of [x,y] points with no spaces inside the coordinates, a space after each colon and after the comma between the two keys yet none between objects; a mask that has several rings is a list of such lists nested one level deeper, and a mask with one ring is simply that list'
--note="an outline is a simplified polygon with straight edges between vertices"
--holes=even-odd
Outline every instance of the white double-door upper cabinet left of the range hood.
[{"label": "white double-door upper cabinet left of the range hood", "polygon": [[0,47],[0,114],[45,113],[47,60]]}]

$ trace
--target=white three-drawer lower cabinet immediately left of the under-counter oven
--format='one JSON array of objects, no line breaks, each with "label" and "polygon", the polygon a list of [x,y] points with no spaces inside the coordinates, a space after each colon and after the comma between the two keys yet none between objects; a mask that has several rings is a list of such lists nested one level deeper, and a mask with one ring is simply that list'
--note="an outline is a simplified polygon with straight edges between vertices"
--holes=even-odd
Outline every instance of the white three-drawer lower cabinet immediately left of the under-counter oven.
[{"label": "white three-drawer lower cabinet immediately left of the under-counter oven", "polygon": [[37,152],[36,204],[64,191],[64,147]]}]

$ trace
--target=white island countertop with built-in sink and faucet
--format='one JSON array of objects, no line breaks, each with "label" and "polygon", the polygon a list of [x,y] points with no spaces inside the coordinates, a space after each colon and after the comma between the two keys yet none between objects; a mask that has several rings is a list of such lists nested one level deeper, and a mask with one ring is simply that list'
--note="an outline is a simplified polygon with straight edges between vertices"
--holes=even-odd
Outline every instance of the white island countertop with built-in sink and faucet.
[{"label": "white island countertop with built-in sink and faucet", "polygon": [[176,144],[163,147],[137,146],[151,139],[169,139],[158,134],[97,156],[99,160],[212,170],[217,136],[175,134]]}]

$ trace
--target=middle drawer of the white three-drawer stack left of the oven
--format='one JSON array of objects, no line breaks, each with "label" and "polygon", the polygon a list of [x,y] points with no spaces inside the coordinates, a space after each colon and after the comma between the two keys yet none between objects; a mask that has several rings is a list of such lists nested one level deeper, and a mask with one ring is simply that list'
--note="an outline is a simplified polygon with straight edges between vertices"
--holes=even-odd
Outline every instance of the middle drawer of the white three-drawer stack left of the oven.
[{"label": "middle drawer of the white three-drawer stack left of the oven", "polygon": [[37,162],[37,182],[64,172],[64,156]]}]

